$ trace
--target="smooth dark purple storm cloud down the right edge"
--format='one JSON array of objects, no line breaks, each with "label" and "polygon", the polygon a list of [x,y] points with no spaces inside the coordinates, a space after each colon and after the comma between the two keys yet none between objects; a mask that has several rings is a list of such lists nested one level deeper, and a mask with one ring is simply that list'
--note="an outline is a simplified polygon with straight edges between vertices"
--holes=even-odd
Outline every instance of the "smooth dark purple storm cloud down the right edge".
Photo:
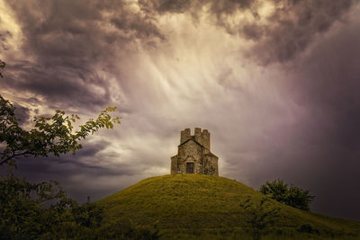
[{"label": "smooth dark purple storm cloud down the right edge", "polygon": [[[310,58],[303,60],[299,69],[302,74],[294,81],[300,91],[296,101],[311,110],[317,120],[311,130],[318,135],[314,145],[320,157],[316,160],[324,166],[319,174],[331,182],[322,182],[321,190],[331,192],[332,201],[324,199],[319,208],[332,208],[338,215],[357,219],[360,194],[351,189],[360,188],[359,23],[348,24],[320,44]],[[337,202],[347,202],[347,208],[341,212]]]}]

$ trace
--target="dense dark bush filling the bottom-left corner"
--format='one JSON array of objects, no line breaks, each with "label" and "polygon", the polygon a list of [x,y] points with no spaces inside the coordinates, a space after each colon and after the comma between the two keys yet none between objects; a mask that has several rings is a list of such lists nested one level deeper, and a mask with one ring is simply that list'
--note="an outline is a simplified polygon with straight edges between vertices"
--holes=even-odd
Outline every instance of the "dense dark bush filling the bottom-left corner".
[{"label": "dense dark bush filling the bottom-left corner", "polygon": [[43,233],[56,234],[59,224],[67,220],[67,209],[74,205],[58,182],[30,183],[7,173],[0,177],[1,237],[33,239]]}]

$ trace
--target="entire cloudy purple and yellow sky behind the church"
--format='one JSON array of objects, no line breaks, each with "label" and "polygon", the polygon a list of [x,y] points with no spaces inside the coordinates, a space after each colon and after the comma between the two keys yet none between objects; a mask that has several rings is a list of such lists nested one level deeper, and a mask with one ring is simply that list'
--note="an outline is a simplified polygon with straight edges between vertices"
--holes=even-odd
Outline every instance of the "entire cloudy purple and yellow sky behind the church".
[{"label": "entire cloudy purple and yellow sky behind the church", "polygon": [[58,109],[121,117],[18,173],[99,200],[170,173],[199,127],[220,176],[282,179],[312,211],[360,220],[359,29],[356,0],[0,0],[0,93],[24,128]]}]

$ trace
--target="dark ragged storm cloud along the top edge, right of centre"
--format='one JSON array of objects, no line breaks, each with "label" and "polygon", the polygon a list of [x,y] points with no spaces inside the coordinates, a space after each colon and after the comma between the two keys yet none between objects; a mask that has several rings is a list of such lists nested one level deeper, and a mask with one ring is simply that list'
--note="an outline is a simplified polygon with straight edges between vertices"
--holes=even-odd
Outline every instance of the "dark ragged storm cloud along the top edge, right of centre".
[{"label": "dark ragged storm cloud along the top edge, right of centre", "polygon": [[[248,51],[248,58],[255,58],[266,65],[272,62],[285,62],[302,53],[314,37],[329,30],[336,21],[341,21],[356,1],[327,0],[272,0],[266,1],[274,6],[270,15],[263,16],[263,1],[221,0],[221,1],[139,1],[148,12],[191,13],[195,19],[203,7],[208,7],[212,22],[231,35],[239,35],[256,42]],[[237,20],[238,14],[250,13],[253,19]],[[263,22],[266,21],[266,22]]]}]

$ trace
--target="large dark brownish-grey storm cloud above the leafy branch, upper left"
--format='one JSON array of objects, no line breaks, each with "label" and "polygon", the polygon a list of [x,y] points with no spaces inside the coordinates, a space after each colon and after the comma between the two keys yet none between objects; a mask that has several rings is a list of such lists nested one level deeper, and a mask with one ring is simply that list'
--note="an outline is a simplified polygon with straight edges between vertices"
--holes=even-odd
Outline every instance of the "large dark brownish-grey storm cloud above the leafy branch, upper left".
[{"label": "large dark brownish-grey storm cloud above the leafy branch, upper left", "polygon": [[[114,69],[119,68],[116,59],[120,53],[125,53],[134,40],[153,45],[154,39],[163,38],[150,18],[133,13],[130,5],[121,1],[8,4],[23,30],[23,53],[31,60],[9,56],[2,85],[36,93],[49,105],[61,102],[60,108],[81,106],[91,110],[111,104],[111,86],[106,78],[117,74]],[[99,75],[99,69],[107,76]]]}]

